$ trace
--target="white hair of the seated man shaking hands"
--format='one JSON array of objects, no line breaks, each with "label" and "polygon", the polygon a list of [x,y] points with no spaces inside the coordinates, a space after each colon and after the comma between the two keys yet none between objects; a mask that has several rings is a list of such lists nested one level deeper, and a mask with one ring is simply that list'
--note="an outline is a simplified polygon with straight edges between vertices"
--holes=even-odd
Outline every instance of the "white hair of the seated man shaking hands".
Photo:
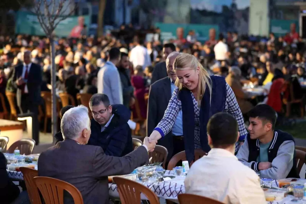
[{"label": "white hair of the seated man shaking hands", "polygon": [[80,105],[67,110],[61,120],[63,137],[76,139],[84,129],[90,129],[88,108]]}]

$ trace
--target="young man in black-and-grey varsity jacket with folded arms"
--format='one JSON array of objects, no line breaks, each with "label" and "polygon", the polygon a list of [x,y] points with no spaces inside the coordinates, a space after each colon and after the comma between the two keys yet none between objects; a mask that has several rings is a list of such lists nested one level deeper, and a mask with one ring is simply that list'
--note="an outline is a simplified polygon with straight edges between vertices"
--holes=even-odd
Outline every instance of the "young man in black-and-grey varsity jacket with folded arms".
[{"label": "young man in black-and-grey varsity jacket with folded arms", "polygon": [[259,172],[262,178],[300,178],[293,136],[274,130],[275,111],[262,104],[251,109],[248,116],[249,133],[237,153],[238,160]]}]

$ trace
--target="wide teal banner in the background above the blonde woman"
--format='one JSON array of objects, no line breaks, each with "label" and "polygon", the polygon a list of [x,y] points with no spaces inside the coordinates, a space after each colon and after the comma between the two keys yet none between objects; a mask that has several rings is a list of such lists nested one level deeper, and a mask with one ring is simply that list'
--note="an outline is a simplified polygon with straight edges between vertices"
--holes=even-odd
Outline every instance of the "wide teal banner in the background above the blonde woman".
[{"label": "wide teal banner in the background above the blonde woman", "polygon": [[219,35],[219,26],[213,24],[165,24],[156,23],[155,27],[161,30],[161,40],[177,39],[177,28],[183,28],[184,38],[186,39],[190,30],[195,31],[196,39],[200,42],[204,42],[209,38],[209,29],[214,28],[216,30],[216,36]]}]

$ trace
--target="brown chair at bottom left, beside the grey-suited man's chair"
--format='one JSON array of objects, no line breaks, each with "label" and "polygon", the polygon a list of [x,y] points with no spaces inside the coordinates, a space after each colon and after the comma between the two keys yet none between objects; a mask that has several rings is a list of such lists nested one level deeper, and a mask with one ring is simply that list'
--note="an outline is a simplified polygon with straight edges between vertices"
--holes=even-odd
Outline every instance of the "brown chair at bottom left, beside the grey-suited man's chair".
[{"label": "brown chair at bottom left, beside the grey-suited man's chair", "polygon": [[33,180],[34,177],[38,176],[38,171],[27,167],[20,167],[19,169],[23,174],[31,204],[41,204],[38,188]]}]

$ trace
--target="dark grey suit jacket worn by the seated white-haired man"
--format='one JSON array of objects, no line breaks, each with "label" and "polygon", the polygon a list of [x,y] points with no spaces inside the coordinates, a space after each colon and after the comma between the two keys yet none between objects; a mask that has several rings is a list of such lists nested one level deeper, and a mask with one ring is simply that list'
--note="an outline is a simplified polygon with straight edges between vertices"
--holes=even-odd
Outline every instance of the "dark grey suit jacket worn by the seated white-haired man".
[{"label": "dark grey suit jacket worn by the seated white-haired man", "polygon": [[[106,204],[109,203],[107,176],[129,174],[148,162],[145,147],[119,158],[105,155],[101,147],[65,139],[40,154],[38,174],[74,185],[85,204]],[[71,199],[65,196],[65,204],[73,203]]]}]

